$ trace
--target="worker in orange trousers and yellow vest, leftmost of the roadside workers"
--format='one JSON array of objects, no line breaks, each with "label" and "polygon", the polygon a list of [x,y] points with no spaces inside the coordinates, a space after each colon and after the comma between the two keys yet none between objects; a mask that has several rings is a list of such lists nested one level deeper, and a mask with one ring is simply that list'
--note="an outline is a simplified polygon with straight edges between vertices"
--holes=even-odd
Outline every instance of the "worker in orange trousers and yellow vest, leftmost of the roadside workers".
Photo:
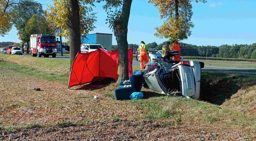
[{"label": "worker in orange trousers and yellow vest, leftmost of the roadside workers", "polygon": [[140,46],[138,47],[138,54],[140,54],[140,70],[141,71],[143,71],[143,68],[146,67],[148,63],[147,52],[148,52],[148,46],[143,41],[141,41]]}]

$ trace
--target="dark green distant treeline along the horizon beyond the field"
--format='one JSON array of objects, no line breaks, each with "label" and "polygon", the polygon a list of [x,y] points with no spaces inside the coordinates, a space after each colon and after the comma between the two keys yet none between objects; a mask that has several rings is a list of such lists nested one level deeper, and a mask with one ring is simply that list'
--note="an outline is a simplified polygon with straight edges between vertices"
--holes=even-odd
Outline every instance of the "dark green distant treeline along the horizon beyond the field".
[{"label": "dark green distant treeline along the horizon beyond the field", "polygon": [[[153,42],[147,44],[148,48],[162,50],[166,42],[158,44]],[[256,43],[253,44],[234,44],[221,46],[196,46],[192,44],[179,43],[182,56],[202,56],[202,57],[219,57],[219,58],[241,58],[256,59]],[[128,48],[133,48],[134,52],[138,48],[137,44],[129,44]],[[112,46],[112,50],[118,49],[117,45]]]}]

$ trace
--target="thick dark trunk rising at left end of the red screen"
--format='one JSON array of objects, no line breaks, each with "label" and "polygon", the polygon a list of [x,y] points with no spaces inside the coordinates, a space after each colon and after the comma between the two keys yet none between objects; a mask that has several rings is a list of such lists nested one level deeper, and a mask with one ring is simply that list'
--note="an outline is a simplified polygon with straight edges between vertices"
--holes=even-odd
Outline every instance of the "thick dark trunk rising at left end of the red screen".
[{"label": "thick dark trunk rising at left end of the red screen", "polygon": [[78,0],[67,1],[69,15],[67,26],[69,29],[69,46],[70,46],[70,67],[71,71],[73,61],[77,52],[80,52],[81,36],[80,36],[80,18],[79,18],[79,3]]}]

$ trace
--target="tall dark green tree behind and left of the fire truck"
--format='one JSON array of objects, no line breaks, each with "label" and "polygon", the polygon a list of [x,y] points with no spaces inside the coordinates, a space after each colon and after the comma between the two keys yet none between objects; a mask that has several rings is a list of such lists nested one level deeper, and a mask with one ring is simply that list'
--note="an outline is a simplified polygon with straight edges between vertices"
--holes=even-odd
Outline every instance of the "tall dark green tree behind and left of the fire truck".
[{"label": "tall dark green tree behind and left of the fire truck", "polygon": [[19,39],[22,43],[27,43],[27,53],[29,53],[30,34],[25,31],[25,25],[34,14],[44,16],[44,11],[41,3],[32,0],[25,0],[12,10],[12,22],[17,28]]}]

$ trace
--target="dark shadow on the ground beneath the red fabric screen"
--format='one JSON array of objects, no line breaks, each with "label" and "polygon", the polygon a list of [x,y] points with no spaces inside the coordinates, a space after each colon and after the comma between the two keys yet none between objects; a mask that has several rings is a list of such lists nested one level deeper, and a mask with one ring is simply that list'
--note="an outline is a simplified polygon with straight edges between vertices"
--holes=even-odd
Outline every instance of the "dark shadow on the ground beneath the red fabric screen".
[{"label": "dark shadow on the ground beneath the red fabric screen", "polygon": [[99,90],[104,87],[107,87],[111,83],[115,82],[114,79],[111,78],[100,78],[96,77],[93,79],[91,83],[84,84],[83,86],[75,89],[75,90]]}]

